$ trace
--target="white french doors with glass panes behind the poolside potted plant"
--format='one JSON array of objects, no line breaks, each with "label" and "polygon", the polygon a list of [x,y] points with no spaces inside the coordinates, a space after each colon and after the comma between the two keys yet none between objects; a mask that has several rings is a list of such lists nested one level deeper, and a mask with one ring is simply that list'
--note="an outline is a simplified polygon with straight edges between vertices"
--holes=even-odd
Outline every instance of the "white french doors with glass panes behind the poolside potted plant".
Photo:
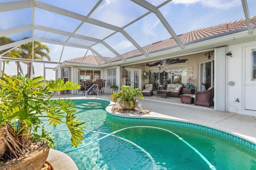
[{"label": "white french doors with glass panes behind the poolside potted plant", "polygon": [[124,77],[124,85],[132,86],[133,88],[140,87],[140,69],[128,69],[128,77]]}]

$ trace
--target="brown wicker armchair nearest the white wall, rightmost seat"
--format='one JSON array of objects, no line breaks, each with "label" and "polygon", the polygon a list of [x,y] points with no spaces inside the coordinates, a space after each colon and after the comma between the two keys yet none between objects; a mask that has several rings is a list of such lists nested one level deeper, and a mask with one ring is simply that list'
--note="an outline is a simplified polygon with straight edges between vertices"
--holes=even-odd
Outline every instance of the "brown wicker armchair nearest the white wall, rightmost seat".
[{"label": "brown wicker armchair nearest the white wall, rightmost seat", "polygon": [[205,91],[198,91],[195,94],[194,104],[210,107],[213,105],[213,102],[212,102],[213,97],[214,97],[214,87],[210,87],[208,90],[205,90]]}]

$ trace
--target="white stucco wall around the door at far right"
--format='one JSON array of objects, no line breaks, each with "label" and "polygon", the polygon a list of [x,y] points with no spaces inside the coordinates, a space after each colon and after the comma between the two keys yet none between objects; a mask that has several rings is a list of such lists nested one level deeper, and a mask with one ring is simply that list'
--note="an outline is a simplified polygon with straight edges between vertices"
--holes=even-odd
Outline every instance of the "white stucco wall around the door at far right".
[{"label": "white stucco wall around the door at far right", "polygon": [[[242,43],[237,45],[228,46],[228,51],[232,52],[232,57],[228,57],[227,69],[227,83],[234,81],[235,85],[230,86],[227,84],[227,96],[228,96],[228,111],[239,113],[243,115],[256,116],[256,111],[245,109],[245,49],[246,47],[252,47],[256,49],[256,42]],[[246,56],[251,57],[251,56]],[[256,90],[256,87],[255,87]],[[250,97],[256,97],[254,93]],[[239,102],[236,101],[239,99]],[[255,103],[256,105],[256,103]]]}]

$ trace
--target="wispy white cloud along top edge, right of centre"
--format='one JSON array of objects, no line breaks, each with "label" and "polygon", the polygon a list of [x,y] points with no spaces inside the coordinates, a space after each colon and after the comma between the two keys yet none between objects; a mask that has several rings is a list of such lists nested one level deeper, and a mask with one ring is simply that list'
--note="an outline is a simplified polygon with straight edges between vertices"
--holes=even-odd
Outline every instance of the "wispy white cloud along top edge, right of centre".
[{"label": "wispy white cloud along top edge, right of centre", "polygon": [[228,9],[237,7],[241,4],[240,0],[173,0],[174,4],[196,4],[200,3],[202,6],[207,8],[216,8],[216,9]]}]

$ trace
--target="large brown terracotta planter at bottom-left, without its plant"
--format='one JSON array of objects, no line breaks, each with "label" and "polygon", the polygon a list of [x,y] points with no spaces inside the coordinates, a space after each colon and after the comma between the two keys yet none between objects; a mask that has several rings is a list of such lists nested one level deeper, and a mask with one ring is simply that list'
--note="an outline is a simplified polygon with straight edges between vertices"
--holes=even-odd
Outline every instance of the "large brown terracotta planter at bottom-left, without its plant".
[{"label": "large brown terracotta planter at bottom-left, without its plant", "polygon": [[49,154],[48,144],[44,144],[35,152],[23,158],[13,159],[10,162],[0,164],[1,170],[41,170]]}]

